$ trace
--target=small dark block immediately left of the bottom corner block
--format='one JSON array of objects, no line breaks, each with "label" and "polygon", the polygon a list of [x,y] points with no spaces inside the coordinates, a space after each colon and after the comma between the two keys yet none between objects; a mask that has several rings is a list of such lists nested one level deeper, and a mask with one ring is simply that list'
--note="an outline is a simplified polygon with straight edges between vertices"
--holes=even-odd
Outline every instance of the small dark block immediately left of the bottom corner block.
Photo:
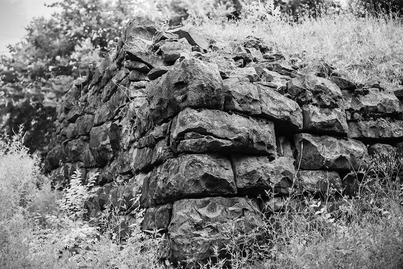
[{"label": "small dark block immediately left of the bottom corner block", "polygon": [[158,231],[166,230],[172,217],[172,204],[155,208],[148,208],[144,213],[142,230]]}]

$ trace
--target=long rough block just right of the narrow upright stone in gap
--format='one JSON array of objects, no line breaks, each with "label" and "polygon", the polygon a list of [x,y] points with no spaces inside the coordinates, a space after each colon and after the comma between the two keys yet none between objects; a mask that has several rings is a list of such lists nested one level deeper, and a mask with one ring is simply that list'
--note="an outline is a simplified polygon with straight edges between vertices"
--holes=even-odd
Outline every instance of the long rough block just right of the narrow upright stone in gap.
[{"label": "long rough block just right of the narrow upright stone in gap", "polygon": [[368,152],[360,141],[312,136],[308,133],[295,134],[294,141],[298,151],[297,160],[301,160],[301,169],[358,171],[367,167]]}]

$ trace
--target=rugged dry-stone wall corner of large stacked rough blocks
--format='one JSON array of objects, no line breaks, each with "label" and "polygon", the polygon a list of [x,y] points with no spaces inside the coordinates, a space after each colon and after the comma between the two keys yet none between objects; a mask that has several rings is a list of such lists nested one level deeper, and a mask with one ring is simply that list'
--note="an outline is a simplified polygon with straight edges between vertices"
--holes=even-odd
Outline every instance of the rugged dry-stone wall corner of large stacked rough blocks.
[{"label": "rugged dry-stone wall corner of large stacked rough blocks", "polygon": [[354,194],[369,154],[403,148],[401,90],[301,66],[254,37],[218,42],[134,19],[116,52],[70,86],[45,171],[60,182],[100,173],[106,193],[87,206],[96,214],[123,196],[125,225],[138,186],[142,228],[165,233],[173,262],[206,260],[231,233],[259,240],[266,204],[328,186]]}]

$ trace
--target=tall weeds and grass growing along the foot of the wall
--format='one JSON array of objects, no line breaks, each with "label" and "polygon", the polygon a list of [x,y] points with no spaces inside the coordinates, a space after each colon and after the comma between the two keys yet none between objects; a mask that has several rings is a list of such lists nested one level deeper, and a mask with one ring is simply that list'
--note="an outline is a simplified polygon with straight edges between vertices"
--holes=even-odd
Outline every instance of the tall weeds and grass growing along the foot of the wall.
[{"label": "tall weeds and grass growing along the foot of the wall", "polygon": [[[23,146],[20,130],[0,151],[1,268],[167,268],[159,260],[163,236],[141,231],[143,211],[122,237],[121,207],[103,212],[100,226],[85,218],[85,201],[96,189],[77,171],[64,191],[38,173]],[[401,268],[403,264],[403,159],[375,155],[355,196],[329,188],[320,195],[283,197],[282,209],[265,209],[265,243],[232,238],[231,260],[218,258],[204,268]],[[123,188],[124,188],[124,183]],[[38,188],[39,186],[39,188]],[[267,193],[268,197],[277,196]],[[123,199],[123,196],[120,197]],[[139,197],[132,200],[138,205]],[[130,209],[131,210],[131,209]],[[99,227],[103,227],[99,229]],[[220,250],[217,249],[217,253]]]}]

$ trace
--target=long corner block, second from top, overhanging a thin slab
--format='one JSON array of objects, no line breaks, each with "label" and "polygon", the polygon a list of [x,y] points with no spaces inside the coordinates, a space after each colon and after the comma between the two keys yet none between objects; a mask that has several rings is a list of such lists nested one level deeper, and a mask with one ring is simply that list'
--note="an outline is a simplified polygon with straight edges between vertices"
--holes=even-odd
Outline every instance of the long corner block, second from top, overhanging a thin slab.
[{"label": "long corner block, second from top, overhanging a thin slab", "polygon": [[[232,143],[225,152],[248,151],[276,156],[274,124],[268,120],[245,118],[219,110],[186,108],[172,121],[171,144],[183,138],[186,132],[207,134]],[[220,149],[217,149],[219,151]]]}]

